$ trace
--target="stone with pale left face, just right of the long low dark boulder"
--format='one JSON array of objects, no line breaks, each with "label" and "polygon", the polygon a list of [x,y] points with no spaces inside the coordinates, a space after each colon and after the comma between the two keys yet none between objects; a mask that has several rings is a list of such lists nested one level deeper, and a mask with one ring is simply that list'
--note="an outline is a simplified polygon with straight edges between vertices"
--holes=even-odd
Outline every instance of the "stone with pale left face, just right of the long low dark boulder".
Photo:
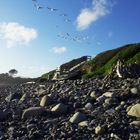
[{"label": "stone with pale left face, just right of the long low dark boulder", "polygon": [[62,104],[62,103],[59,103],[59,104],[57,104],[57,105],[55,105],[52,109],[51,109],[51,111],[53,112],[53,113],[55,113],[55,114],[63,114],[63,113],[66,113],[68,110],[67,110],[68,108],[67,108],[67,106],[66,105],[64,105],[64,104]]}]

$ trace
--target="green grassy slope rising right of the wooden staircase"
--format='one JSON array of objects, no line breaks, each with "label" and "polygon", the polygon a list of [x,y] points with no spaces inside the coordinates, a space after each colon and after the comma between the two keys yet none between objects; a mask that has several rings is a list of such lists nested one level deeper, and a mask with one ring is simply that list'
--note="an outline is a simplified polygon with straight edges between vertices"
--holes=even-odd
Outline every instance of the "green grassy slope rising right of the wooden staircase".
[{"label": "green grassy slope rising right of the wooden staircase", "polygon": [[112,67],[116,65],[117,60],[124,60],[125,63],[140,63],[140,43],[129,44],[117,49],[98,54],[94,59],[85,63],[84,78],[106,75]]}]

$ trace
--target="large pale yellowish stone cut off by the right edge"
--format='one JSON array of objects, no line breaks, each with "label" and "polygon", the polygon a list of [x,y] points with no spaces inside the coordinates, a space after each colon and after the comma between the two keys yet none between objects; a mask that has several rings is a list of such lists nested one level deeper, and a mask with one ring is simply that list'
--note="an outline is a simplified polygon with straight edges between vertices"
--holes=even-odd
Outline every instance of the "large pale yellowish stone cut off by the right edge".
[{"label": "large pale yellowish stone cut off by the right edge", "polygon": [[130,116],[140,118],[140,104],[133,105],[127,114]]}]

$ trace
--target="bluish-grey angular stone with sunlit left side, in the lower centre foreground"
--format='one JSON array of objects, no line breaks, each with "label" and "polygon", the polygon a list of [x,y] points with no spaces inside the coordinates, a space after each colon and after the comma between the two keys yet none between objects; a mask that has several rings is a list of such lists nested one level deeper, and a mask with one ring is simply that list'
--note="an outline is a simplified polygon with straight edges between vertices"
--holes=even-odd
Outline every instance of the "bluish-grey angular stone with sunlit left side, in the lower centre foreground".
[{"label": "bluish-grey angular stone with sunlit left side, in the lower centre foreground", "polygon": [[81,112],[76,112],[71,118],[70,122],[71,123],[80,123],[82,121],[86,120],[86,115],[81,113]]}]

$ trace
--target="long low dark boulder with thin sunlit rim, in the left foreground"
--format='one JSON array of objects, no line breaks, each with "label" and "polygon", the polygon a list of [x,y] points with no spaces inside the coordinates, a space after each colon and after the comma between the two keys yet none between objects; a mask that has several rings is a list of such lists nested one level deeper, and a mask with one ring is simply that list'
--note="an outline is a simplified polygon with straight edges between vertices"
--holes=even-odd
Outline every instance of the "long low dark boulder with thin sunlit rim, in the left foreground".
[{"label": "long low dark boulder with thin sunlit rim, in the left foreground", "polygon": [[22,114],[22,119],[28,119],[30,117],[35,117],[41,115],[45,109],[43,107],[30,107],[25,109]]}]

